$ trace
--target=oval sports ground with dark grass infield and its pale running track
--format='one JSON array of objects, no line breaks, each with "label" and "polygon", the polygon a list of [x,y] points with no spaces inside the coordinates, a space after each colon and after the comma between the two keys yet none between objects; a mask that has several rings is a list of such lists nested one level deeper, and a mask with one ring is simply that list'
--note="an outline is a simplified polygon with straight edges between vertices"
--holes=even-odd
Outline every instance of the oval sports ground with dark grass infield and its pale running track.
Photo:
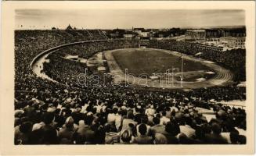
[{"label": "oval sports ground with dark grass infield and its pale running track", "polygon": [[[138,83],[140,86],[139,82],[144,80],[143,82],[146,82],[149,87],[170,89],[225,86],[233,83],[233,74],[229,69],[218,66],[215,62],[182,55],[176,51],[153,48],[124,48],[105,51],[104,55],[110,73],[116,77],[114,80],[117,82],[119,80],[128,81]],[[127,70],[125,71],[125,69]],[[127,74],[132,75],[135,79],[126,79]],[[146,78],[142,77],[145,75]],[[167,75],[171,76],[174,83],[172,87],[162,85],[162,82],[169,82]],[[147,81],[148,78],[157,79],[157,81]],[[181,82],[183,85],[178,86]]]}]

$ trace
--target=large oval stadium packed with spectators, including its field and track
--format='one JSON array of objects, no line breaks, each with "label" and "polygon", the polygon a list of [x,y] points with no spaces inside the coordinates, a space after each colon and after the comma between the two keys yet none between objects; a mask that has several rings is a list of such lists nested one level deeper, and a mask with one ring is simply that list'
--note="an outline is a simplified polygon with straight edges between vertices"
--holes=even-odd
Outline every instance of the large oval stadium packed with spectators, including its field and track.
[{"label": "large oval stadium packed with spectators, including its field and track", "polygon": [[245,49],[16,30],[15,144],[246,144],[245,80]]}]

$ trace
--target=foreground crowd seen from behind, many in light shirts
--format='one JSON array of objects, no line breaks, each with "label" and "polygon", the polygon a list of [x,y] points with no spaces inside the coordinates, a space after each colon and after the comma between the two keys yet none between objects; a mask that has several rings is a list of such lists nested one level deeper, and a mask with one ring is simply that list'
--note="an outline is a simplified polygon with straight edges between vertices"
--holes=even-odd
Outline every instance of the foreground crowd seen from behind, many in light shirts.
[{"label": "foreground crowd seen from behind, many in light shirts", "polygon": [[93,87],[40,95],[16,101],[16,144],[246,143],[243,109],[211,105],[208,121],[200,101],[180,92]]}]

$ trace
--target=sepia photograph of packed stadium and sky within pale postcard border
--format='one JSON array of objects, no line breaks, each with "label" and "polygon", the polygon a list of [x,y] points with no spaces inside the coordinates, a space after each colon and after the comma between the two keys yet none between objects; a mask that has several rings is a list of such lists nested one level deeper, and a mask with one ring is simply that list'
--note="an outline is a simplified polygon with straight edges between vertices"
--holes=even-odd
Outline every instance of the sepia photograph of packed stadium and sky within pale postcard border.
[{"label": "sepia photograph of packed stadium and sky within pale postcard border", "polygon": [[247,10],[151,7],[14,9],[14,146],[248,144]]}]

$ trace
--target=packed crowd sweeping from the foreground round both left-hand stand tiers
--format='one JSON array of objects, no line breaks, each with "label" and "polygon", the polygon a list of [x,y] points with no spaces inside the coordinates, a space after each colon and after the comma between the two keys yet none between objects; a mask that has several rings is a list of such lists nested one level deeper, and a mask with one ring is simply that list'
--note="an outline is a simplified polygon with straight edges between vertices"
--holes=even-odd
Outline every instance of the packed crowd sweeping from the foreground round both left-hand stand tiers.
[{"label": "packed crowd sweeping from the foreground round both left-hand stand tiers", "polygon": [[[108,40],[52,53],[52,64],[44,67],[61,83],[32,73],[30,63],[41,51],[73,41],[104,39],[97,32],[16,31],[15,144],[246,144],[245,110],[210,102],[245,100],[244,87],[190,91],[74,87],[72,76],[83,73],[84,65],[64,55],[88,58],[107,49],[134,48],[137,41]],[[213,112],[212,119],[206,118],[204,109]]]}]

